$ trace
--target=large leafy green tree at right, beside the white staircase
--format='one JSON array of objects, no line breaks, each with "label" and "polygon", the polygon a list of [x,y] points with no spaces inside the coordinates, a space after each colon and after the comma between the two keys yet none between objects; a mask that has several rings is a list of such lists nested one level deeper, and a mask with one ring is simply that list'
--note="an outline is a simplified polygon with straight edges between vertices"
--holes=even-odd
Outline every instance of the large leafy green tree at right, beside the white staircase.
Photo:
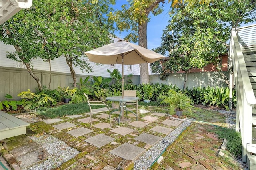
[{"label": "large leafy green tree at right, beside the white staircase", "polygon": [[[256,4],[251,0],[213,0],[210,4],[186,7],[178,4],[164,30],[156,51],[169,57],[152,64],[152,70],[165,79],[170,73],[203,68],[214,63],[221,67],[222,55],[228,52],[231,28],[255,21]],[[186,77],[184,87],[186,83]]]}]

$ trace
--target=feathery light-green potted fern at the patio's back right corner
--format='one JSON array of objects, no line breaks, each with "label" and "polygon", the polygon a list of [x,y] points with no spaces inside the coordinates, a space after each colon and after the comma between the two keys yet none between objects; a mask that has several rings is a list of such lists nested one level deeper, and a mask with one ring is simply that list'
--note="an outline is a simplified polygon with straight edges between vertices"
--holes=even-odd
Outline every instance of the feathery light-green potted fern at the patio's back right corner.
[{"label": "feathery light-green potted fern at the patio's back right corner", "polygon": [[184,110],[191,110],[191,99],[184,93],[176,92],[174,90],[168,91],[167,95],[159,95],[160,104],[169,105],[170,114],[175,113],[178,117],[182,117]]}]

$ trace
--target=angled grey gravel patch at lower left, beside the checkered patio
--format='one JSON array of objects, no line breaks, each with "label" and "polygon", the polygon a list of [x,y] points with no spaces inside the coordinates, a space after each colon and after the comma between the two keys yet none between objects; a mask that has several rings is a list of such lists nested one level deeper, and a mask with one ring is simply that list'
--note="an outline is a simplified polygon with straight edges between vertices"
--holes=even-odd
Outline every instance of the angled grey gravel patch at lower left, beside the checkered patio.
[{"label": "angled grey gravel patch at lower left, beside the checkered patio", "polygon": [[31,140],[40,144],[50,154],[50,158],[40,164],[34,164],[24,170],[50,170],[63,164],[64,162],[74,158],[78,150],[71,148],[65,142],[50,134],[41,136],[29,136]]}]

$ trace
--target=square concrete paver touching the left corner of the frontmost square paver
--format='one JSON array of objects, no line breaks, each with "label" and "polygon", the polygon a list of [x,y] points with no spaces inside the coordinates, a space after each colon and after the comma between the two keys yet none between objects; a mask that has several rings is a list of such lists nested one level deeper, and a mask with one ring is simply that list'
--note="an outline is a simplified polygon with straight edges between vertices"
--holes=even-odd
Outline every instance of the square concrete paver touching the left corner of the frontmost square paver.
[{"label": "square concrete paver touching the left corner of the frontmost square paver", "polygon": [[93,144],[94,146],[101,148],[102,146],[114,141],[114,138],[111,138],[110,136],[107,136],[105,134],[97,134],[96,136],[93,136],[91,138],[88,138],[84,141]]}]

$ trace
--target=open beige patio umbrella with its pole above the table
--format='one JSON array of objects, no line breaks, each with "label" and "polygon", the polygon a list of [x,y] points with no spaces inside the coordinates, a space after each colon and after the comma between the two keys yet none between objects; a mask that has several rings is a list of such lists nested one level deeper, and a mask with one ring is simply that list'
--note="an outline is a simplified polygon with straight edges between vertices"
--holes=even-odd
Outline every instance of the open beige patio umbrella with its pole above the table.
[{"label": "open beige patio umbrella with its pole above the table", "polygon": [[153,63],[164,56],[124,40],[85,52],[89,61],[101,64],[122,64],[122,96],[124,97],[124,64]]}]

